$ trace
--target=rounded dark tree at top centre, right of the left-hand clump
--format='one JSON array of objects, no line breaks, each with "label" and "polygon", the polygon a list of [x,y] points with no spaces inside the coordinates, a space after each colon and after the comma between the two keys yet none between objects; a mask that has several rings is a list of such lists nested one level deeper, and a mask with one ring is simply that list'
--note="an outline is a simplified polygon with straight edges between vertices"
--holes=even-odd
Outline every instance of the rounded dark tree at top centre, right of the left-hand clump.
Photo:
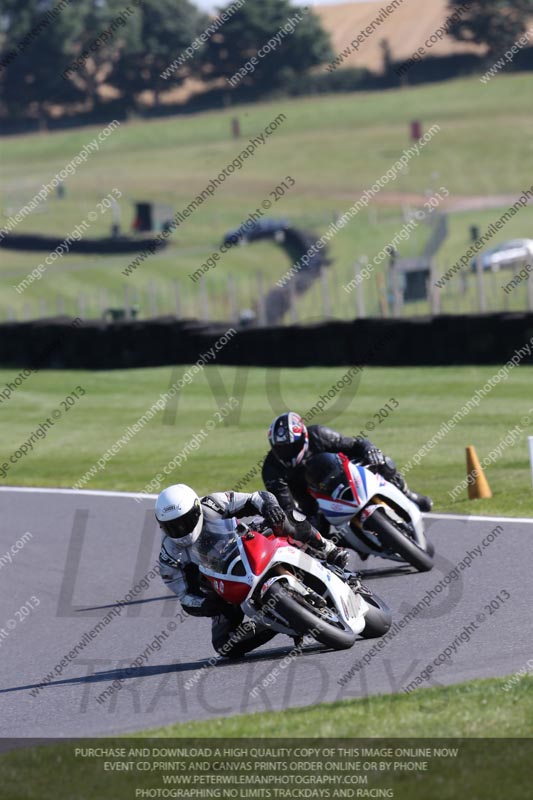
[{"label": "rounded dark tree at top centre, right of the left-hand clump", "polygon": [[313,12],[290,0],[246,0],[211,37],[203,73],[228,81],[236,76],[230,85],[261,93],[333,57],[329,34]]}]

